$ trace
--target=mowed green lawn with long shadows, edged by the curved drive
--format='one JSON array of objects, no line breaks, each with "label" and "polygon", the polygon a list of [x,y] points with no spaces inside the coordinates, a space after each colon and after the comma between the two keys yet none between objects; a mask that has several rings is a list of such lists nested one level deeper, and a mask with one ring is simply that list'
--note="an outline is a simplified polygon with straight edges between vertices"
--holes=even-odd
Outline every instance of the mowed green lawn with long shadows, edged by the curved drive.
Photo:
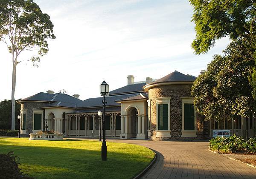
[{"label": "mowed green lawn with long shadows, edged by the curved drive", "polygon": [[22,171],[36,179],[129,179],[154,158],[154,152],[143,146],[107,141],[107,161],[102,161],[101,146],[101,142],[76,139],[0,137],[0,153],[14,151]]}]

